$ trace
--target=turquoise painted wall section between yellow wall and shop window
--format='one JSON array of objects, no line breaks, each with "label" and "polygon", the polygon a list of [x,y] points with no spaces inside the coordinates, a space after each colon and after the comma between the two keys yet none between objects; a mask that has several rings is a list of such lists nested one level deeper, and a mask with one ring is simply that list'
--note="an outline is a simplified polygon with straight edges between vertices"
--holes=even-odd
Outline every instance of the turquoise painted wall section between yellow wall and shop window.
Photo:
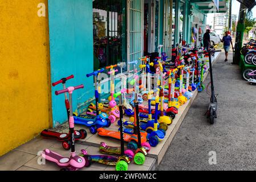
[{"label": "turquoise painted wall section between yellow wall and shop window", "polygon": [[[49,0],[51,82],[73,74],[67,86],[84,84],[73,94],[73,110],[93,96],[93,80],[86,74],[93,71],[92,1]],[[90,86],[90,88],[88,88]],[[67,121],[64,95],[55,96],[52,87],[53,125]],[[86,97],[85,97],[86,96]]]}]

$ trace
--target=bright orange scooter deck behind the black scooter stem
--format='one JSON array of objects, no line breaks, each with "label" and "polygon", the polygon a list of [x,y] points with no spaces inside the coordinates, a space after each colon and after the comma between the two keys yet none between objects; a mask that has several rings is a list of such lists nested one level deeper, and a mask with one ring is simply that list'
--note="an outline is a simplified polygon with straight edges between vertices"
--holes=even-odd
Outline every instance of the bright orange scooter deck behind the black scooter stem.
[{"label": "bright orange scooter deck behind the black scooter stem", "polygon": [[[109,137],[120,140],[120,132],[119,131],[110,131],[103,129],[102,127],[97,129],[97,133],[100,137]],[[147,132],[141,131],[141,143],[147,142]],[[135,135],[129,135],[124,133],[124,141],[130,142],[131,140],[135,140],[137,142],[137,137]]]}]

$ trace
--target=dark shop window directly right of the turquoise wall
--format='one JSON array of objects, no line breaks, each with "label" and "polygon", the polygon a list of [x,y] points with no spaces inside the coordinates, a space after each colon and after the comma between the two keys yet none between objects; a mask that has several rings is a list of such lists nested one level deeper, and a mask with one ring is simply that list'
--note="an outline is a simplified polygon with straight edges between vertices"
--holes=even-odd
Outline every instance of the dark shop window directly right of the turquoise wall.
[{"label": "dark shop window directly right of the turquoise wall", "polygon": [[127,61],[126,1],[94,0],[94,70]]}]

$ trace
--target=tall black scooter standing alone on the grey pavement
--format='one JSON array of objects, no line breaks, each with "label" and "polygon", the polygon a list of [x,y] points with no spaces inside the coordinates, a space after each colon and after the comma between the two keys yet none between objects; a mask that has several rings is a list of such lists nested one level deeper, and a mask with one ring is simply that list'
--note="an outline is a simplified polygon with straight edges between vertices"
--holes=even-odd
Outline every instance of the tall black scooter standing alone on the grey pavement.
[{"label": "tall black scooter standing alone on the grey pavement", "polygon": [[209,55],[209,66],[210,66],[210,82],[211,82],[211,90],[212,95],[210,98],[210,104],[208,107],[208,111],[206,113],[207,118],[210,118],[210,123],[214,124],[214,119],[217,118],[217,98],[214,93],[214,85],[213,85],[213,68],[212,68],[212,57],[210,56],[212,52],[221,52],[221,50],[215,50],[215,51],[206,51]]}]

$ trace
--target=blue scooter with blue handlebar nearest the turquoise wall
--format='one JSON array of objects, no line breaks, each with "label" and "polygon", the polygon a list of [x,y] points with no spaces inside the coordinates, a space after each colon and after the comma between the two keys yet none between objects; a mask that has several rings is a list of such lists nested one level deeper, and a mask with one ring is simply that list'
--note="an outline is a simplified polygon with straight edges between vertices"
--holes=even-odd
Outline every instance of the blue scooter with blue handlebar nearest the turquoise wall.
[{"label": "blue scooter with blue handlebar nearest the turquoise wall", "polygon": [[95,102],[96,102],[96,117],[92,115],[78,115],[75,116],[75,124],[76,125],[84,125],[90,128],[90,132],[95,134],[97,131],[96,129],[100,127],[109,127],[111,122],[108,119],[103,119],[99,115],[99,93],[97,91],[97,76],[103,72],[104,69],[100,69],[98,71],[92,72],[87,74],[87,77],[94,76],[94,85],[95,85]]}]

